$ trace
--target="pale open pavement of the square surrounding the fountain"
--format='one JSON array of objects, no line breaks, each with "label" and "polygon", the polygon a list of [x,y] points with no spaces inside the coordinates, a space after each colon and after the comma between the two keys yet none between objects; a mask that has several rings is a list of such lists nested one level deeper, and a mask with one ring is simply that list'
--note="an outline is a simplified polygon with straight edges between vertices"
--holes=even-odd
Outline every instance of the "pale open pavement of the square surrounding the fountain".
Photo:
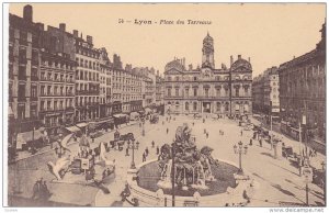
[{"label": "pale open pavement of the square surrounding the fountain", "polygon": [[[253,121],[253,120],[252,120]],[[163,122],[163,123],[162,123]],[[257,121],[253,121],[257,122]],[[174,116],[170,123],[163,116],[157,124],[145,124],[146,135],[141,136],[141,127],[135,123],[122,126],[121,134],[134,133],[138,141],[139,148],[135,150],[136,165],[141,164],[143,153],[146,147],[149,149],[147,160],[157,158],[156,148],[151,147],[154,141],[156,146],[161,147],[164,143],[171,144],[175,130],[179,125],[188,123],[192,128],[192,135],[196,137],[196,146],[202,148],[207,145],[214,148],[213,157],[238,165],[238,155],[234,153],[234,145],[238,142],[249,144],[253,131],[243,131],[238,126],[237,121],[222,119],[193,120],[192,116]],[[194,125],[193,125],[194,123]],[[167,134],[167,128],[169,130]],[[208,138],[204,134],[204,130],[208,132]],[[219,130],[224,131],[224,135],[219,134]],[[92,147],[99,145],[100,142],[109,142],[114,137],[113,131],[95,138]],[[288,139],[280,135],[282,141],[294,150],[298,150],[298,142]],[[70,145],[72,152],[78,149],[78,144]],[[279,206],[281,202],[291,202],[303,204],[305,202],[305,183],[299,177],[296,167],[281,156],[281,144],[277,147],[279,158],[274,159],[274,152],[271,145],[263,143],[260,147],[257,141],[252,146],[248,145],[247,155],[242,156],[242,168],[252,179],[254,179],[254,195],[250,200],[249,206]],[[48,171],[47,161],[55,161],[56,155],[54,150],[45,152],[41,155],[27,157],[9,166],[9,194],[21,198],[31,198],[33,184],[37,178],[48,181],[48,189],[52,192],[49,201],[58,203],[67,203],[73,205],[92,205],[92,206],[132,206],[127,202],[122,202],[121,192],[126,183],[127,170],[132,162],[132,150],[126,156],[125,147],[122,152],[111,149],[106,153],[110,160],[115,159],[115,176],[110,178],[106,183],[111,193],[105,194],[102,190],[83,182],[56,182],[54,176]],[[321,168],[325,156],[318,154],[310,159],[310,164],[315,168]],[[20,177],[20,178],[19,178]],[[15,186],[15,187],[13,187]],[[324,205],[322,189],[316,184],[309,184],[309,204]]]}]

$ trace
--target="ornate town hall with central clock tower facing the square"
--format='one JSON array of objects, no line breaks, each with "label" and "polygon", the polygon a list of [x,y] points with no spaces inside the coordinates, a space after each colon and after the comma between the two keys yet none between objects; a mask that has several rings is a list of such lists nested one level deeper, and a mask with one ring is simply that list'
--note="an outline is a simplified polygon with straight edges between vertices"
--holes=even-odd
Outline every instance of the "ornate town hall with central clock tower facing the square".
[{"label": "ornate town hall with central clock tower facing the square", "polygon": [[164,104],[167,113],[215,113],[222,115],[250,114],[252,67],[238,55],[230,68],[222,64],[215,68],[214,40],[203,40],[202,67],[185,68],[185,59],[177,59],[164,67]]}]

